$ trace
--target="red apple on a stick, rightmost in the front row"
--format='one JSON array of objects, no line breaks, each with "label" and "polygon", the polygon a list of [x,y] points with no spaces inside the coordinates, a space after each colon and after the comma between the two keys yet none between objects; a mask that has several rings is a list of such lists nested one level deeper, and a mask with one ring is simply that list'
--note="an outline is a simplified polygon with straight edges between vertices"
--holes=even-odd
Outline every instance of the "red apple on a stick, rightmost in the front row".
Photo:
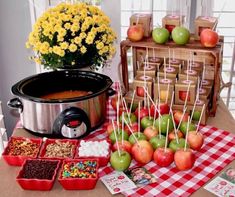
[{"label": "red apple on a stick, rightmost in the front row", "polygon": [[175,165],[179,170],[189,170],[195,162],[195,155],[191,149],[179,149],[174,155]]}]

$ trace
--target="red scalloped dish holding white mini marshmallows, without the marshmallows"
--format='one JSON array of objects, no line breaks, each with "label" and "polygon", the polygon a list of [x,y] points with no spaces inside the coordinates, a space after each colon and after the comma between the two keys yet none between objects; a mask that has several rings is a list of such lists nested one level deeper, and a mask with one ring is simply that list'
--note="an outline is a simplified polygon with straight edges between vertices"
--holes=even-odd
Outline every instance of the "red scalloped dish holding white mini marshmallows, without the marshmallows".
[{"label": "red scalloped dish holding white mini marshmallows, without the marshmallows", "polygon": [[[103,140],[83,140],[85,142],[102,142],[102,141],[106,141],[108,143],[108,155],[107,156],[80,156],[79,155],[79,147],[81,147],[81,142],[82,140],[80,140],[78,142],[78,146],[77,146],[77,149],[76,149],[76,154],[75,154],[75,159],[98,159],[98,162],[99,162],[99,167],[103,167],[103,166],[107,166],[109,160],[110,160],[110,155],[111,155],[111,143],[109,140],[106,140],[106,139],[103,139]],[[92,145],[89,145],[89,147],[92,148]],[[94,146],[93,146],[94,147]]]}]

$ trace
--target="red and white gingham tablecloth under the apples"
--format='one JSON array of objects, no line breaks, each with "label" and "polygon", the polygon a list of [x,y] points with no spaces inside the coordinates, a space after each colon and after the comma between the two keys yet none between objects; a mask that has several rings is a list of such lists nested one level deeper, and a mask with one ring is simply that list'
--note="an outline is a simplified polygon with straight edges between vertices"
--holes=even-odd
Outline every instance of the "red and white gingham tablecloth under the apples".
[{"label": "red and white gingham tablecloth under the apples", "polygon": [[[107,121],[111,119],[116,119],[116,113],[112,109],[109,99]],[[144,167],[157,177],[157,182],[134,190],[128,190],[123,194],[133,197],[189,196],[235,159],[234,134],[208,125],[201,126],[200,131],[205,136],[205,141],[203,148],[195,153],[196,162],[192,169],[179,171],[174,163],[167,168],[158,167],[157,164],[151,161]],[[92,132],[85,139],[105,139],[107,137],[105,130],[100,129]],[[132,161],[131,166],[135,165],[136,162]],[[100,168],[99,175],[104,176],[112,171],[113,169],[108,165]]]}]

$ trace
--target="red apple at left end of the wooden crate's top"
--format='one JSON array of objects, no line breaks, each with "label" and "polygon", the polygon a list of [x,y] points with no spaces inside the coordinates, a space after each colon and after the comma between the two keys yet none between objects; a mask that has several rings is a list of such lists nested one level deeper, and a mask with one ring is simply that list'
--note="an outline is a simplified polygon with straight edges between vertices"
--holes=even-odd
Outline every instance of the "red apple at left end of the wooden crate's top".
[{"label": "red apple at left end of the wooden crate's top", "polygon": [[127,30],[127,37],[132,42],[137,42],[142,40],[142,38],[144,37],[143,26],[139,24],[130,26]]}]

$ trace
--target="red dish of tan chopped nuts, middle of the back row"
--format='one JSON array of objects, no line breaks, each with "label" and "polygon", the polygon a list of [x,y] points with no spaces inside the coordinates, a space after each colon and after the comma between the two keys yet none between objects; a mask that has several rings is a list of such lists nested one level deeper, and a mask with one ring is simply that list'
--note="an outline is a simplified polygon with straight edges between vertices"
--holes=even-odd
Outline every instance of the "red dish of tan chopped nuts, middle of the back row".
[{"label": "red dish of tan chopped nuts, middle of the back row", "polygon": [[43,143],[39,158],[42,159],[72,159],[77,146],[77,140],[46,139]]}]

